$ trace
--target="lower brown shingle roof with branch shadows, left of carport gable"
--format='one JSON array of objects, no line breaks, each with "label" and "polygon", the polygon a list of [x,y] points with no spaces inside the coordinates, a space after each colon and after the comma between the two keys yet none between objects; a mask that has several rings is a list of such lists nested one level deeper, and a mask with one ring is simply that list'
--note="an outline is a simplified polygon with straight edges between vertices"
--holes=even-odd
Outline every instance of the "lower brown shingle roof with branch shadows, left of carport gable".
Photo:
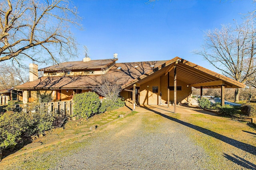
[{"label": "lower brown shingle roof with branch shadows, left of carport gable", "polygon": [[[116,78],[117,83],[123,85],[142,74],[152,70],[151,65],[155,67],[166,61],[147,61],[134,63],[116,63],[107,73],[110,78]],[[68,63],[68,62],[67,62]],[[86,62],[87,63],[87,62]],[[138,66],[134,68],[134,66]],[[122,67],[120,70],[116,68]],[[101,81],[101,75],[87,76],[51,76],[41,77],[33,82],[27,82],[16,89],[86,89],[98,86]]]}]

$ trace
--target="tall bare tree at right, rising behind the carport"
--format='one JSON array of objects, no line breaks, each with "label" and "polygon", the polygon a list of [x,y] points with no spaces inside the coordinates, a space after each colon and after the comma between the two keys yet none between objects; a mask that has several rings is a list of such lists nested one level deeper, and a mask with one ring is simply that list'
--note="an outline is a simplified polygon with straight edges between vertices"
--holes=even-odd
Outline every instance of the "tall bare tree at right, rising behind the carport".
[{"label": "tall bare tree at right, rising behind the carport", "polygon": [[[255,34],[252,20],[246,20],[235,28],[222,26],[222,29],[208,31],[202,55],[209,63],[222,73],[238,82],[245,83],[253,79],[256,73],[255,65]],[[235,102],[239,101],[239,89],[235,91]]]}]

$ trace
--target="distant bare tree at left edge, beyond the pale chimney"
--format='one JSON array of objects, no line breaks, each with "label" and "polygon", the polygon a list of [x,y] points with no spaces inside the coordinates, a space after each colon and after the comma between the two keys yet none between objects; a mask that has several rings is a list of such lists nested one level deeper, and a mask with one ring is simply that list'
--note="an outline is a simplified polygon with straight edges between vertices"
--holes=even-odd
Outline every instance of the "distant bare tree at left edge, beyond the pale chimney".
[{"label": "distant bare tree at left edge, beyond the pale chimney", "polygon": [[10,64],[0,64],[0,90],[9,89],[28,81],[24,69],[15,68]]}]

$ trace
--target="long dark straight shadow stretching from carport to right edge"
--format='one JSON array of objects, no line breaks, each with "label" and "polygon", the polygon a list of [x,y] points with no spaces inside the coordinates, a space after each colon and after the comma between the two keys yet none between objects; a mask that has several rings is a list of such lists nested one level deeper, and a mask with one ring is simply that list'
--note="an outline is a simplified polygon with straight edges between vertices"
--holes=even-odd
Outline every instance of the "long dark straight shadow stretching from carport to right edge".
[{"label": "long dark straight shadow stretching from carport to right edge", "polygon": [[193,125],[191,123],[187,123],[187,122],[181,121],[181,120],[176,119],[174,117],[170,117],[168,115],[165,115],[165,114],[162,114],[160,112],[154,111],[154,110],[152,110],[152,109],[150,109],[148,107],[144,107],[144,108],[148,109],[149,111],[153,111],[154,113],[156,113],[158,115],[161,115],[162,117],[165,117],[165,118],[167,118],[167,119],[169,119],[171,121],[175,121],[175,122],[180,123],[180,124],[182,124],[182,125],[184,125],[186,127],[190,127],[190,128],[195,129],[195,130],[197,130],[197,131],[199,131],[201,133],[204,133],[206,135],[209,135],[211,137],[219,139],[220,141],[223,141],[223,142],[225,142],[225,143],[227,143],[229,145],[232,145],[232,146],[234,146],[234,147],[236,147],[238,149],[241,149],[241,150],[244,150],[244,151],[246,151],[248,153],[256,155],[256,147],[253,146],[253,145],[249,145],[247,143],[243,143],[243,142],[237,141],[235,139],[226,137],[224,135],[221,135],[219,133],[213,132],[211,130],[205,129],[205,128],[200,127],[200,126]]}]

